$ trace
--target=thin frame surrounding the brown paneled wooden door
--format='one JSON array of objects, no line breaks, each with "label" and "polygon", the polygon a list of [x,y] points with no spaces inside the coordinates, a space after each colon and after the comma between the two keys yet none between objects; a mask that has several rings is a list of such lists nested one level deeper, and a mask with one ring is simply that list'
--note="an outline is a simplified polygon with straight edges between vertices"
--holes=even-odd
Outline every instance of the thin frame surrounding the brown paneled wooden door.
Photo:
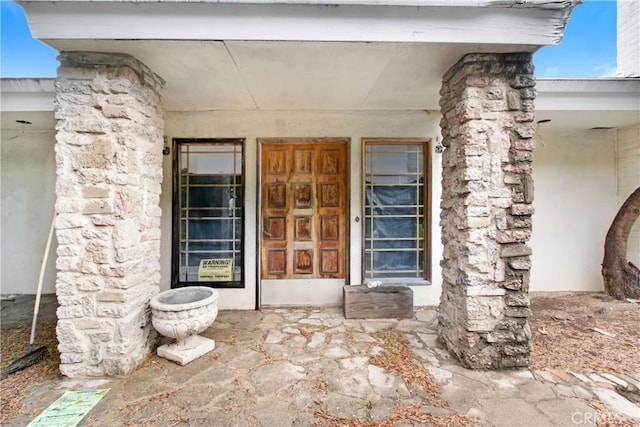
[{"label": "thin frame surrounding the brown paneled wooden door", "polygon": [[[269,279],[262,278],[262,233],[264,221],[262,218],[262,168],[264,165],[262,164],[262,154],[263,154],[263,146],[266,144],[314,144],[314,143],[322,143],[322,144],[344,144],[345,145],[345,173],[344,177],[344,185],[345,185],[345,203],[344,203],[344,278],[340,279],[311,279],[318,281],[326,281],[333,283],[332,286],[336,287],[336,283],[340,282],[340,298],[336,299],[333,302],[322,302],[320,301],[317,305],[341,305],[342,304],[342,286],[347,285],[350,280],[350,256],[351,256],[351,246],[350,246],[350,213],[351,213],[351,138],[349,137],[286,137],[286,138],[278,138],[278,137],[267,137],[267,138],[257,138],[257,148],[258,148],[258,173],[257,173],[257,181],[258,181],[258,191],[256,191],[256,305],[258,308],[265,306],[304,306],[310,305],[309,303],[303,304],[265,304],[263,302],[263,281]],[[304,283],[307,280],[304,279],[282,279],[282,281],[287,281],[289,283]]]}]

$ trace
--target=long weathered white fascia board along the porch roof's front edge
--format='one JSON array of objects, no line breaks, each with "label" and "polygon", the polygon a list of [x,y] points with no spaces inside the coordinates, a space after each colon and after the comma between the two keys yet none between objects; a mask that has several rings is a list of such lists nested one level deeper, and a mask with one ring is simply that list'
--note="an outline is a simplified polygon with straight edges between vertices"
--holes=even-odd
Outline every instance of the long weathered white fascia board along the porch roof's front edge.
[{"label": "long weathered white fascia board along the porch roof's front edge", "polygon": [[[476,6],[488,3],[495,5],[498,2],[473,2]],[[575,5],[572,1],[547,1],[545,7],[542,7],[543,2],[535,2],[540,7],[513,7],[512,1],[500,3],[509,6],[21,2],[32,35],[45,41],[279,40],[486,43],[532,47],[559,43]],[[549,3],[561,3],[564,7],[551,8]]]}]

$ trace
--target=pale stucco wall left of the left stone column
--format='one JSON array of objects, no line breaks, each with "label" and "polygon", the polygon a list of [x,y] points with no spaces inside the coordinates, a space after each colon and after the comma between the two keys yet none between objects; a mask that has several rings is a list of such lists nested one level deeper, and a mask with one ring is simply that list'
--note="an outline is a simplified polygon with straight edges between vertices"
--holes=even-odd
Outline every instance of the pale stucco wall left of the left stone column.
[{"label": "pale stucco wall left of the left stone column", "polygon": [[[34,294],[53,217],[55,133],[3,131],[0,293]],[[55,238],[42,291],[55,293]]]}]

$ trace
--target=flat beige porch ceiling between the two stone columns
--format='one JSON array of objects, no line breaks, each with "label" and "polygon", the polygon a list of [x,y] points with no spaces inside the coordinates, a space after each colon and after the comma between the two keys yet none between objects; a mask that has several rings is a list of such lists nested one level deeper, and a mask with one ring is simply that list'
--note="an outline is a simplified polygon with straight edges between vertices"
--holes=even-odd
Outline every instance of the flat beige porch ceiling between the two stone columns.
[{"label": "flat beige porch ceiling between the two stone columns", "polygon": [[[127,53],[166,81],[168,111],[439,110],[442,76],[465,53],[444,43],[90,40],[59,50]],[[508,46],[512,50],[514,46]]]}]

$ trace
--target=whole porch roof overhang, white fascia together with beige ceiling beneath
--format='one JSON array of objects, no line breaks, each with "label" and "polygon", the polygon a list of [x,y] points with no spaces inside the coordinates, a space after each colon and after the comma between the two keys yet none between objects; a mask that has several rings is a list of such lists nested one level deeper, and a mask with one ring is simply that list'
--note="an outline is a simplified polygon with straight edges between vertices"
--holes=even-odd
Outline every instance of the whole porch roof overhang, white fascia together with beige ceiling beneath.
[{"label": "whole porch roof overhang, white fascia together with beige ceiling beneath", "polygon": [[20,3],[59,51],[142,61],[168,111],[437,111],[463,55],[558,43],[580,0]]}]

